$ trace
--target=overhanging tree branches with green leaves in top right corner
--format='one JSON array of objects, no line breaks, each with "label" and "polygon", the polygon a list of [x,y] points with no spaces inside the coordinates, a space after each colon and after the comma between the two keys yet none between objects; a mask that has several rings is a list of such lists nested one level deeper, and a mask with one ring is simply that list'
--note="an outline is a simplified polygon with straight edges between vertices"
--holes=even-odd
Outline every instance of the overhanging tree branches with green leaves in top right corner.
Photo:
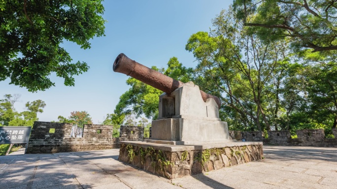
[{"label": "overhanging tree branches with green leaves in top right corner", "polygon": [[290,38],[296,51],[337,50],[336,0],[235,0],[234,7],[264,40]]}]

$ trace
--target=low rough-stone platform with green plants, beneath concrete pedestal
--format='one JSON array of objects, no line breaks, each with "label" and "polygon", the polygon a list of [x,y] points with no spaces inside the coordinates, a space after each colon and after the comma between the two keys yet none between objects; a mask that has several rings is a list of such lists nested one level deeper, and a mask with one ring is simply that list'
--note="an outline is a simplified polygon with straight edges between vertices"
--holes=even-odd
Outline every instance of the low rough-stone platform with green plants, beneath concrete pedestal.
[{"label": "low rough-stone platform with green plants, beneath concrete pedestal", "polygon": [[121,141],[118,160],[175,179],[263,158],[262,142],[169,145]]}]

